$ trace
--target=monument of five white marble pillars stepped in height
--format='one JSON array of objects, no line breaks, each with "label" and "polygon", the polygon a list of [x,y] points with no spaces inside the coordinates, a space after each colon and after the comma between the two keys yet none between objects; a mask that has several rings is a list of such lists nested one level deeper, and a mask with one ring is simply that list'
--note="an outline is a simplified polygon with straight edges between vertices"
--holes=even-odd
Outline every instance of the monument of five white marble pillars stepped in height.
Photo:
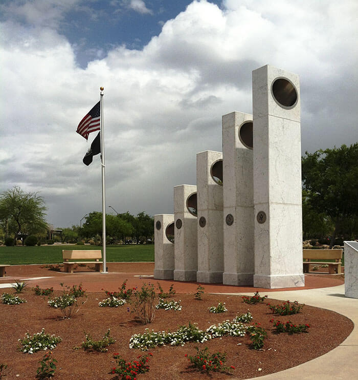
[{"label": "monument of five white marble pillars stepped in height", "polygon": [[154,278],[304,286],[299,77],[266,65],[252,87],[253,115],[222,116],[222,153],[198,153],[196,186],[154,216]]}]

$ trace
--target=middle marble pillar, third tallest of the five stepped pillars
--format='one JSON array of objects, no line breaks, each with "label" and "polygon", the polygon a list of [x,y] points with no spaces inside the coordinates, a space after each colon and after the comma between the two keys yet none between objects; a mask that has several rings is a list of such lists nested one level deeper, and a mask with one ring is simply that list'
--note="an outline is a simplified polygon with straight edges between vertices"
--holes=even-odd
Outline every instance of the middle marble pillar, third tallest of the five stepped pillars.
[{"label": "middle marble pillar, third tallest of the five stepped pillars", "polygon": [[222,283],[222,153],[196,154],[197,273],[196,281]]}]

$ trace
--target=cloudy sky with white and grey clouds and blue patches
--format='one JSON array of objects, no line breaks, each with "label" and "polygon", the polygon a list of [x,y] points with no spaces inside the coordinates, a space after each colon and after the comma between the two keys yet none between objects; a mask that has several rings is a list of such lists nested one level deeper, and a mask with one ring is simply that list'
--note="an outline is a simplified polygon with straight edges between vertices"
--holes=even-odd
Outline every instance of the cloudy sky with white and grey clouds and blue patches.
[{"label": "cloudy sky with white and grey clouds and blue patches", "polygon": [[252,113],[252,71],[301,79],[302,154],[358,141],[356,0],[2,0],[0,192],[40,192],[48,222],[101,210],[77,124],[104,87],[106,204],[173,212],[221,115]]}]

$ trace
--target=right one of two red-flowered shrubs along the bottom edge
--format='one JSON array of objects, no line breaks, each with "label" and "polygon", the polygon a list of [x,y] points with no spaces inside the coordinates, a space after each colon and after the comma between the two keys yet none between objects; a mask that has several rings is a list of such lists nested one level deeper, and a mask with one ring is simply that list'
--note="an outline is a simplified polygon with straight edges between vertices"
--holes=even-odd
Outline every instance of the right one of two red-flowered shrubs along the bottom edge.
[{"label": "right one of two red-flowered shrubs along the bottom edge", "polygon": [[206,372],[209,375],[210,371],[223,372],[235,369],[234,366],[226,367],[224,363],[226,362],[226,353],[215,352],[210,354],[208,347],[204,350],[199,350],[197,347],[196,354],[193,356],[188,356],[188,362],[191,363],[192,367],[198,371]]}]

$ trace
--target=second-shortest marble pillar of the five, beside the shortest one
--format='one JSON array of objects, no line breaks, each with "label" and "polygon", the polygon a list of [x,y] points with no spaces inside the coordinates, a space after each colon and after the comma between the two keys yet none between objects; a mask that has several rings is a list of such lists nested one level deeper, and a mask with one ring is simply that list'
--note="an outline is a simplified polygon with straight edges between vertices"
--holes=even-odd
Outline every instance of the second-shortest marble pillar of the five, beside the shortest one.
[{"label": "second-shortest marble pillar of the five, beside the shortest one", "polygon": [[196,186],[174,187],[174,280],[196,281]]}]

